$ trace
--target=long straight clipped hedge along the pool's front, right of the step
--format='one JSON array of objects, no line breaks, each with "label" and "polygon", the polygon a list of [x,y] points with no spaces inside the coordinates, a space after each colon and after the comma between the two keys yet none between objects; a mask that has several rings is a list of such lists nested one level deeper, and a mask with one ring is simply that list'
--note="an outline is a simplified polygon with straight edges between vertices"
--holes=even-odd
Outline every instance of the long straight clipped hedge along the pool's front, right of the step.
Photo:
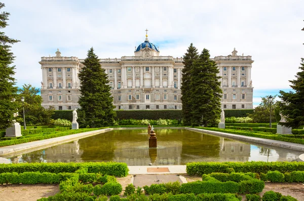
[{"label": "long straight clipped hedge along the pool's front, right of the step", "polygon": [[188,175],[203,175],[213,172],[231,173],[235,172],[254,172],[267,173],[268,171],[278,170],[281,173],[291,171],[304,171],[303,162],[196,162],[187,163],[186,172]]}]

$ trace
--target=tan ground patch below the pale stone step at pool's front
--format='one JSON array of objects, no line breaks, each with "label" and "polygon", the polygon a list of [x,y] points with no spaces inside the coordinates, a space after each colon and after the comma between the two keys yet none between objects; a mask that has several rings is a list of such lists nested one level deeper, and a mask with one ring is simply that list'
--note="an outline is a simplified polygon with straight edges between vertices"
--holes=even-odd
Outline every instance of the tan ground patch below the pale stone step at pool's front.
[{"label": "tan ground patch below the pale stone step at pool's front", "polygon": [[183,183],[179,175],[134,175],[133,185],[135,187],[143,187],[145,185],[149,186],[151,184],[161,184],[175,181]]}]

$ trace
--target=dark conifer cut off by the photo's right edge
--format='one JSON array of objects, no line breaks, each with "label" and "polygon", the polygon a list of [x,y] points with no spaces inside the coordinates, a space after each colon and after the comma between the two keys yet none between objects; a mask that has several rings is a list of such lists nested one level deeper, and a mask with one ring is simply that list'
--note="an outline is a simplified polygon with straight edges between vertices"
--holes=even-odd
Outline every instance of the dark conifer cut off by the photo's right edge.
[{"label": "dark conifer cut off by the photo's right edge", "polygon": [[[304,31],[304,28],[302,29]],[[280,125],[298,128],[304,125],[304,58],[301,58],[300,71],[296,73],[295,80],[289,80],[290,87],[294,91],[284,92],[280,90],[278,102],[280,112],[285,116],[286,122],[279,122]]]}]

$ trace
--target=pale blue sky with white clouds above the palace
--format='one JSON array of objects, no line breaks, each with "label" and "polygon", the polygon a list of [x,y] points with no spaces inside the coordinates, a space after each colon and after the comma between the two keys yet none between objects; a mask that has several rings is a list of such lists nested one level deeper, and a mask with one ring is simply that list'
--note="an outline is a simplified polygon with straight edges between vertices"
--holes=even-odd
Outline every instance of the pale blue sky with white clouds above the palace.
[{"label": "pale blue sky with white clouds above the palace", "polygon": [[254,105],[260,97],[289,90],[304,57],[304,1],[68,1],[3,0],[11,13],[3,31],[13,45],[18,86],[40,87],[41,57],[133,56],[145,38],[162,56],[182,57],[193,42],[211,57],[239,55],[254,60]]}]

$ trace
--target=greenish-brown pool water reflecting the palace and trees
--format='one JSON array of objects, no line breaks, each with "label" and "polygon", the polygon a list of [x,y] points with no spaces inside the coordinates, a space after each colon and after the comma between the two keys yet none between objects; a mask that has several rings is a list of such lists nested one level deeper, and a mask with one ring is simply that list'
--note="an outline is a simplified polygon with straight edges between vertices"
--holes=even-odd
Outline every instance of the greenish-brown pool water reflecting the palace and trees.
[{"label": "greenish-brown pool water reflecting the palace and trees", "polygon": [[148,148],[146,130],[114,130],[10,158],[13,163],[124,162],[185,165],[200,161],[292,161],[301,152],[250,144],[184,129],[156,129],[158,148]]}]

